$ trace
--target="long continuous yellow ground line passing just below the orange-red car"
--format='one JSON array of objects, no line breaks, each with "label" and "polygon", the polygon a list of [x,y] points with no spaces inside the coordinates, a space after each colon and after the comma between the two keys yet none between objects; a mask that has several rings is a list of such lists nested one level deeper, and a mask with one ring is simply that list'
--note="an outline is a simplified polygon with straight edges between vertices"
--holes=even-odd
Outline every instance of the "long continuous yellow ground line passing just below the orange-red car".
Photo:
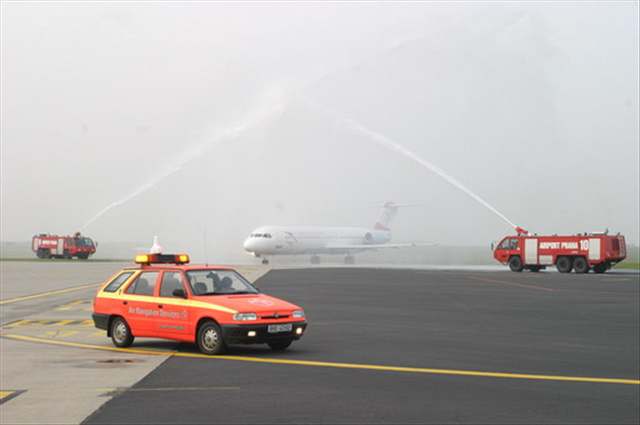
[{"label": "long continuous yellow ground line passing just below the orange-red car", "polygon": [[4,334],[3,338],[35,342],[51,345],[61,345],[74,348],[85,348],[102,351],[112,351],[128,354],[142,354],[142,355],[155,355],[155,356],[174,356],[174,357],[188,357],[208,360],[234,360],[253,363],[267,363],[267,364],[280,364],[280,365],[295,365],[295,366],[314,366],[314,367],[326,367],[326,368],[338,368],[338,369],[359,369],[359,370],[375,370],[380,372],[404,372],[415,374],[431,374],[431,375],[449,375],[449,376],[472,376],[483,378],[507,378],[507,379],[521,379],[521,380],[538,380],[538,381],[563,381],[563,382],[582,382],[592,384],[620,384],[620,385],[640,385],[640,379],[628,379],[628,378],[597,378],[589,376],[562,376],[562,375],[537,375],[527,373],[510,373],[510,372],[483,372],[475,370],[458,370],[458,369],[432,369],[421,367],[405,367],[405,366],[385,366],[385,365],[373,365],[373,364],[358,364],[358,363],[339,363],[339,362],[324,362],[314,360],[293,360],[293,359],[276,359],[268,357],[248,357],[248,356],[208,356],[206,354],[199,353],[181,353],[176,351],[166,350],[147,350],[139,348],[117,348],[103,345],[84,344],[68,341],[56,341],[45,338],[35,338],[24,335]]}]

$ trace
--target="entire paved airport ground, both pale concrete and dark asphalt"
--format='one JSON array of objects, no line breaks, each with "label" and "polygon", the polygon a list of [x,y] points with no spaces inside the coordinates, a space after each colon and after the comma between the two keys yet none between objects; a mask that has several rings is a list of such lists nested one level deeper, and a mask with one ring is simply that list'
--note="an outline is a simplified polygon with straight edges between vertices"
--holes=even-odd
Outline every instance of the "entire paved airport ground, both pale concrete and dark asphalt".
[{"label": "entire paved airport ground, both pale concrete and dark asphalt", "polygon": [[152,339],[114,348],[81,286],[120,265],[66,264],[66,287],[13,298],[5,287],[41,280],[3,273],[2,423],[640,420],[637,273],[253,267],[262,291],[305,308],[307,333],[283,353],[208,357]]}]

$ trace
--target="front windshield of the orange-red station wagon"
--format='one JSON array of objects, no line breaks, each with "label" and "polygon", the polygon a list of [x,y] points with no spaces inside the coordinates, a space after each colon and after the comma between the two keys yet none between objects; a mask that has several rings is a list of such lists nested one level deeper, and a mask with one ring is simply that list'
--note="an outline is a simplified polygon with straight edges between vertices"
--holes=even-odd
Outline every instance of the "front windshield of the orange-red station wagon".
[{"label": "front windshield of the orange-red station wagon", "polygon": [[187,279],[194,295],[257,294],[259,291],[233,270],[190,270]]}]

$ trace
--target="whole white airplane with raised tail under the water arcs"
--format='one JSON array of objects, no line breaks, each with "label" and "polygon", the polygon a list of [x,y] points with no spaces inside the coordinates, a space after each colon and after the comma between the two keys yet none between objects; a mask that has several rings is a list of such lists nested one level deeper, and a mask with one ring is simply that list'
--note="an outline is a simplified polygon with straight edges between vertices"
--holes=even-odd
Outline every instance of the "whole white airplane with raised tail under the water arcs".
[{"label": "whole white airplane with raised tail under the water arcs", "polygon": [[354,264],[352,254],[372,249],[403,248],[434,245],[433,243],[388,243],[391,240],[389,225],[401,206],[385,202],[379,220],[373,228],[325,227],[325,226],[261,226],[251,232],[244,241],[249,254],[262,258],[275,255],[311,255],[311,264],[319,264],[319,254],[344,255],[345,264]]}]

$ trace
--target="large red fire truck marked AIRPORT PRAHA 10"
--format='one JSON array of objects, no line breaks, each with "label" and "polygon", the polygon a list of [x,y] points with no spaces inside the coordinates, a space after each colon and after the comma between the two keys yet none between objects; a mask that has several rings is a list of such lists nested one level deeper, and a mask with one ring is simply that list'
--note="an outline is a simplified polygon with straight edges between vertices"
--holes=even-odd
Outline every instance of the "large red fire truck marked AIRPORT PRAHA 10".
[{"label": "large red fire truck marked AIRPORT PRAHA 10", "polygon": [[517,235],[506,236],[492,247],[493,257],[514,272],[537,272],[555,265],[560,273],[604,273],[627,256],[624,236],[619,233],[540,236],[520,227],[516,231]]}]

